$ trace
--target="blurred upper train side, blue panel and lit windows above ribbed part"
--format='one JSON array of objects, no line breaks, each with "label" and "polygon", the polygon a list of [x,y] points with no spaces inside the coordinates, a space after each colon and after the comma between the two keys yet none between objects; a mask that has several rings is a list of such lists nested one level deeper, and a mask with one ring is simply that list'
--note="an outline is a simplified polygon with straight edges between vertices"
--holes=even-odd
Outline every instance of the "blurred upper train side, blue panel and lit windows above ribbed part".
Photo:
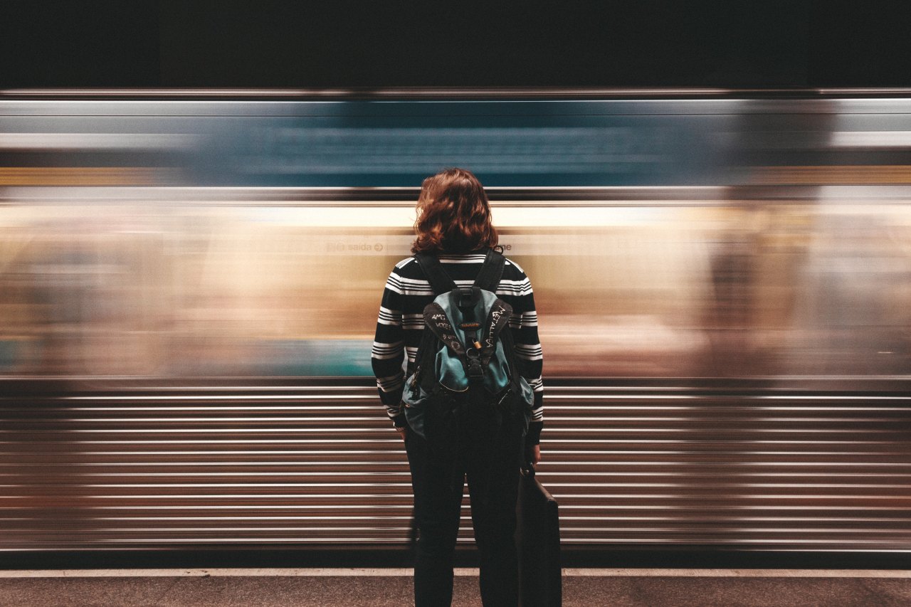
[{"label": "blurred upper train side, blue panel and lit windows above ribbed part", "polygon": [[416,185],[454,164],[532,278],[550,376],[911,363],[911,98],[894,91],[13,97],[0,375],[369,376]]}]

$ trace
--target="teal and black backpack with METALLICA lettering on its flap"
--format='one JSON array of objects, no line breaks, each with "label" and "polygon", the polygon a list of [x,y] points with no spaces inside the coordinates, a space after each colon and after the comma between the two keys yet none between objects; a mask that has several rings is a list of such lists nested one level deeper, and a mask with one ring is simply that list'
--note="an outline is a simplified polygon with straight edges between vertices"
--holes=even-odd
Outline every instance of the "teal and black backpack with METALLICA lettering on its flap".
[{"label": "teal and black backpack with METALLICA lettering on its flap", "polygon": [[456,286],[434,255],[415,259],[436,298],[424,309],[415,372],[405,380],[408,426],[444,450],[457,446],[461,428],[472,421],[491,431],[517,423],[525,434],[534,395],[516,370],[512,306],[495,294],[506,258],[488,251],[468,287]]}]

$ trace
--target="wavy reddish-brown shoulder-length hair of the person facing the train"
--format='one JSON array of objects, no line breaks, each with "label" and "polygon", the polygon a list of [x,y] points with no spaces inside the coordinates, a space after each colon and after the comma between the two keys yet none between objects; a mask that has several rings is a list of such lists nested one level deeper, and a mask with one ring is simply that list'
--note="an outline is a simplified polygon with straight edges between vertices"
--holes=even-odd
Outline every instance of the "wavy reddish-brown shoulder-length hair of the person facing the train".
[{"label": "wavy reddish-brown shoulder-length hair of the person facing the train", "polygon": [[484,186],[465,169],[445,169],[421,184],[411,252],[464,253],[496,247]]}]

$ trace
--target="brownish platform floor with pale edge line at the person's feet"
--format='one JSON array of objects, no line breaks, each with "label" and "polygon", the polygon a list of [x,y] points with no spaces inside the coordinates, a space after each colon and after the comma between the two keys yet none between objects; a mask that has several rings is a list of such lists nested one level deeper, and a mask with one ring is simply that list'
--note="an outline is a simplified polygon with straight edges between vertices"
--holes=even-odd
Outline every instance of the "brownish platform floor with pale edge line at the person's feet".
[{"label": "brownish platform floor with pale edge line at the person's feet", "polygon": [[[565,570],[564,607],[899,607],[911,571]],[[0,607],[404,607],[409,570],[0,571]],[[454,607],[480,606],[456,570]]]}]

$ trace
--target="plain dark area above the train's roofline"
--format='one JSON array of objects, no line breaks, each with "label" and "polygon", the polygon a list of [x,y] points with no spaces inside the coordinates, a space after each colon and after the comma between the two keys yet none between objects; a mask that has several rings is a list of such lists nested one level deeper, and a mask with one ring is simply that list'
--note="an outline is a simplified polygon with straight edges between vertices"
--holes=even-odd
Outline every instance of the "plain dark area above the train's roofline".
[{"label": "plain dark area above the train's roofline", "polygon": [[890,6],[7,0],[0,88],[907,87]]}]

